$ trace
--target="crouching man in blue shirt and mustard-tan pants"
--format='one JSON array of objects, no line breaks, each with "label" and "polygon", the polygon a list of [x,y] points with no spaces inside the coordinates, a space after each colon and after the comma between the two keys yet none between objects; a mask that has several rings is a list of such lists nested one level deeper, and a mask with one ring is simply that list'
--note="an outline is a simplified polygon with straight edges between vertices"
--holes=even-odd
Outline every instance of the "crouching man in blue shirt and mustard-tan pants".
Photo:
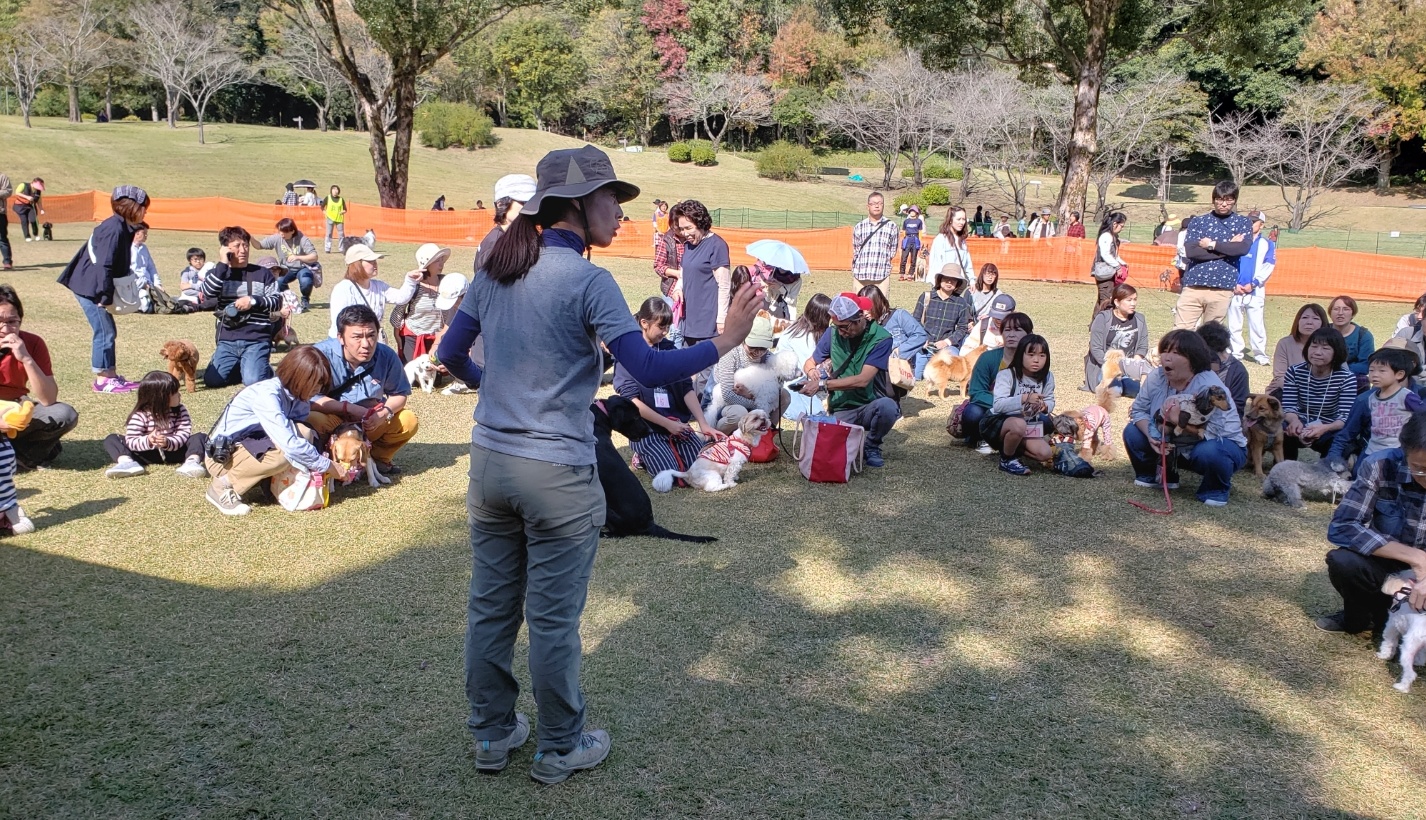
[{"label": "crouching man in blue shirt and mustard-tan pants", "polygon": [[366,305],[351,305],[337,314],[337,338],[315,347],[332,367],[335,388],[312,399],[307,424],[331,435],[344,424],[361,424],[371,442],[371,458],[384,475],[399,473],[392,463],[421,426],[406,402],[411,381],[396,351],[381,344],[381,319]]}]

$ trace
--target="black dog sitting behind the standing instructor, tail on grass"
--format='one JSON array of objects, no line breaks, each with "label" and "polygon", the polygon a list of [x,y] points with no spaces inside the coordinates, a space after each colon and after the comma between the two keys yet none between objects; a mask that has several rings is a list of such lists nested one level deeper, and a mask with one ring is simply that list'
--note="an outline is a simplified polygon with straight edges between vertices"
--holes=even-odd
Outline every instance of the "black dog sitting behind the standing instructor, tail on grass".
[{"label": "black dog sitting behind the standing instructor, tail on grass", "polygon": [[599,466],[599,483],[605,488],[603,533],[609,538],[647,535],[693,543],[717,540],[709,535],[670,532],[653,522],[653,503],[643,489],[643,482],[625,463],[610,438],[610,431],[619,431],[629,441],[649,435],[649,424],[639,416],[639,408],[623,396],[609,396],[596,401],[589,409],[595,414],[595,459]]}]

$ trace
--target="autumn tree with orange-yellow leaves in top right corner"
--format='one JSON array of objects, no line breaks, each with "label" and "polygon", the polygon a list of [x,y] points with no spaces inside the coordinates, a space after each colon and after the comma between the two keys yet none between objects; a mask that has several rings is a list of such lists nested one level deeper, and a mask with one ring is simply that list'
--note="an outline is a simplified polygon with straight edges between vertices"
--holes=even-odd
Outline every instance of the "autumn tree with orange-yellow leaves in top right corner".
[{"label": "autumn tree with orange-yellow leaves in top right corner", "polygon": [[1376,193],[1385,195],[1402,143],[1426,131],[1426,0],[1328,0],[1302,64],[1366,86],[1385,103],[1387,118],[1375,134]]}]

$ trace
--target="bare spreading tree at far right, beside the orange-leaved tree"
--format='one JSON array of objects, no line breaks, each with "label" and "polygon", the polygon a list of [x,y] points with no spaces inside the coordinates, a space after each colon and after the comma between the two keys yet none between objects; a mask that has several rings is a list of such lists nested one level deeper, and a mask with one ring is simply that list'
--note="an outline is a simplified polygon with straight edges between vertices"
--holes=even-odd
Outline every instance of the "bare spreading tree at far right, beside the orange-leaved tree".
[{"label": "bare spreading tree at far right, beside the orange-leaved tree", "polygon": [[1383,106],[1368,88],[1323,83],[1302,87],[1281,117],[1253,130],[1253,165],[1278,185],[1291,230],[1335,214],[1319,208],[1318,197],[1376,167],[1370,134],[1382,120]]}]

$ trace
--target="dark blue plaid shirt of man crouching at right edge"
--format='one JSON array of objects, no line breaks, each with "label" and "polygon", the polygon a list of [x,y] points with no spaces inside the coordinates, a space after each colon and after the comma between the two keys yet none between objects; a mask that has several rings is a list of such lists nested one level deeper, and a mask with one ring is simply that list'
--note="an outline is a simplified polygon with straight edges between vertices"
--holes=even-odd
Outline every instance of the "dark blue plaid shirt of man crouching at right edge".
[{"label": "dark blue plaid shirt of man crouching at right edge", "polygon": [[1362,465],[1332,515],[1328,540],[1362,555],[1393,540],[1426,546],[1426,489],[1412,478],[1400,448]]}]

